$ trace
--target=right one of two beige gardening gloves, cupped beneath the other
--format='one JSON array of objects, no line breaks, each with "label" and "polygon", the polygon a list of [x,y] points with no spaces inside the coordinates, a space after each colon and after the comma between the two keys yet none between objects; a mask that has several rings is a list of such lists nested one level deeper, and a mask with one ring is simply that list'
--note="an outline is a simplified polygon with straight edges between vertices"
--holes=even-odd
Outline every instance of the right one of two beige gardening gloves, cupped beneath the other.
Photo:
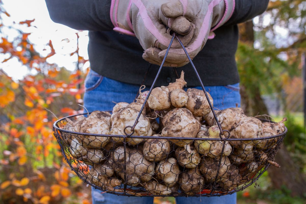
[{"label": "right one of two beige gardening gloves, cupped beneath the other", "polygon": [[[163,4],[161,11],[168,18],[172,17],[169,15],[171,11],[175,12],[176,16],[185,17],[195,26],[192,39],[186,46],[184,45],[190,58],[193,59],[203,49],[207,39],[214,37],[213,31],[230,19],[234,8],[235,0],[174,0]],[[166,49],[155,46],[147,49],[143,58],[160,65],[165,54]],[[166,66],[180,67],[189,61],[182,48],[171,47],[166,62]]]}]

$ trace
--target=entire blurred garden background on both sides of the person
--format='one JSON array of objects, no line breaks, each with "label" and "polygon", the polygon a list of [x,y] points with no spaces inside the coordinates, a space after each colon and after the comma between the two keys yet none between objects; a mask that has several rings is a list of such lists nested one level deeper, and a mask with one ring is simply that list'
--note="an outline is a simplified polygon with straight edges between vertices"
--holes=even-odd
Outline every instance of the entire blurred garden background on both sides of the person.
[{"label": "entire blurred garden background on both sides of the person", "polygon": [[[306,203],[306,2],[270,1],[240,24],[236,60],[246,115],[287,117],[276,162],[238,203]],[[43,0],[0,0],[0,203],[89,204],[52,134],[57,117],[81,112],[88,32],[50,20]],[[174,203],[155,198],[154,203]]]}]

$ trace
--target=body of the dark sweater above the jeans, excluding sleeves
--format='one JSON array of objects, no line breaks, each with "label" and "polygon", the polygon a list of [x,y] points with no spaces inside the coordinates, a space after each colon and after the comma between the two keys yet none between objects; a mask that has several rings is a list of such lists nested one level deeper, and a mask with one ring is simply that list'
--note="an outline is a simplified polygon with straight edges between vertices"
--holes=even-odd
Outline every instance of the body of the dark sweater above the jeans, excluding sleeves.
[{"label": "body of the dark sweater above the jeans, excluding sleeves", "polygon": [[[208,40],[203,50],[192,60],[204,85],[227,85],[239,82],[235,52],[238,42],[237,26],[222,26],[215,30],[215,38]],[[88,55],[91,69],[114,80],[151,85],[159,66],[142,58],[143,48],[138,39],[114,31],[89,32]],[[198,86],[190,63],[183,67],[164,67],[156,83],[168,85],[185,72],[189,86]]]}]

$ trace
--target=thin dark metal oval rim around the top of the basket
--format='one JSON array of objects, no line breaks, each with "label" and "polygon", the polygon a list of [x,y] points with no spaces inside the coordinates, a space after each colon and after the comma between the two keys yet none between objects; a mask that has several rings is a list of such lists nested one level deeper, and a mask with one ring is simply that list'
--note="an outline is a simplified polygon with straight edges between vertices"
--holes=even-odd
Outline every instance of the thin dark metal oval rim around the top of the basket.
[{"label": "thin dark metal oval rim around the top of the basket", "polygon": [[[74,135],[85,135],[85,136],[95,136],[95,137],[117,137],[117,138],[135,138],[135,139],[156,139],[156,136],[138,136],[138,135],[131,135],[131,136],[127,136],[127,135],[105,135],[105,134],[92,134],[92,133],[82,133],[82,132],[73,132],[73,131],[69,131],[69,130],[64,130],[62,128],[58,127],[58,123],[60,123],[61,121],[64,121],[66,118],[70,118],[70,117],[75,117],[75,116],[79,116],[79,115],[85,115],[87,113],[78,113],[78,114],[74,114],[74,115],[69,115],[66,117],[62,117],[60,119],[58,119],[57,121],[55,121],[53,123],[53,128],[61,131],[61,132],[65,132],[65,133],[69,133],[69,134],[74,134]],[[273,121],[269,121],[263,118],[258,118],[261,121],[266,121],[266,122],[273,122]],[[259,138],[228,138],[228,139],[221,139],[221,138],[196,138],[196,137],[166,137],[166,136],[160,136],[158,137],[159,139],[171,139],[171,140],[204,140],[204,141],[254,141],[254,140],[265,140],[265,139],[273,139],[273,138],[277,138],[277,137],[282,137],[284,135],[286,135],[288,129],[285,126],[285,131],[282,132],[281,134],[278,135],[272,135],[272,136],[268,136],[268,137],[259,137]]]}]

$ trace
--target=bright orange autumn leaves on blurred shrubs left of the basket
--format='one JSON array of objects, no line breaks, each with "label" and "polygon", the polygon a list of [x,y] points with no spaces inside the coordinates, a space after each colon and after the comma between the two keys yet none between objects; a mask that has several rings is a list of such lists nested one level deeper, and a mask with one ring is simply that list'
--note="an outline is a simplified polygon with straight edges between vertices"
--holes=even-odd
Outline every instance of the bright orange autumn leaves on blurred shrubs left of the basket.
[{"label": "bright orange autumn leaves on blurred shrubs left of the basket", "polygon": [[[9,16],[1,1],[0,13]],[[34,20],[18,24],[30,27]],[[3,27],[0,22],[1,33]],[[77,113],[86,73],[49,64],[47,59],[55,54],[52,42],[46,44],[49,54],[42,57],[28,40],[31,33],[17,32],[20,35],[14,40],[0,40],[1,55],[6,56],[2,63],[16,58],[37,74],[14,81],[0,70],[0,202],[51,204],[76,199],[90,203],[89,189],[81,190],[84,183],[63,160],[52,133],[56,118],[47,110],[58,117]],[[78,50],[73,54],[78,55]],[[87,61],[78,58],[79,64]]]}]

